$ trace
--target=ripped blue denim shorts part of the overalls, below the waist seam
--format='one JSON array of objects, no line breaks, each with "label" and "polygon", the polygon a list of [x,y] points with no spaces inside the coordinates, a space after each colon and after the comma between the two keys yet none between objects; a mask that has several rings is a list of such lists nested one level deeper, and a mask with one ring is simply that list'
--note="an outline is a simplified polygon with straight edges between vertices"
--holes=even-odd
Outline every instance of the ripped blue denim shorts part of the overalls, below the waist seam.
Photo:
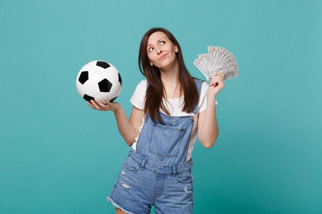
[{"label": "ripped blue denim shorts part of the overalls, below the waist seam", "polygon": [[125,213],[192,213],[192,159],[175,166],[150,162],[131,149],[107,200]]}]

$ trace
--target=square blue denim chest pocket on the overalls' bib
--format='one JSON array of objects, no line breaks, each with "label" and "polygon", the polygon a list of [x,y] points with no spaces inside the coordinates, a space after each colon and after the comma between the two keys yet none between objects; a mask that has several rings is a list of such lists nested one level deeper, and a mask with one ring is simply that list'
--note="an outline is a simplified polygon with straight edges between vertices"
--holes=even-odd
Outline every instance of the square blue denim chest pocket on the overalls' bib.
[{"label": "square blue denim chest pocket on the overalls' bib", "polygon": [[177,157],[185,128],[153,123],[148,150],[160,157]]}]

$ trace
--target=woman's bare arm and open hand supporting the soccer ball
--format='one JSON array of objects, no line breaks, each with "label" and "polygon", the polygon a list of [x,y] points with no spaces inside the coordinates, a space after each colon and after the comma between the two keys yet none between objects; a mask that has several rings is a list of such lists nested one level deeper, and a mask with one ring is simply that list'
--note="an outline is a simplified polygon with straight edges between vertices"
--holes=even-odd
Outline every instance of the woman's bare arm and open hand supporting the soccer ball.
[{"label": "woman's bare arm and open hand supporting the soccer ball", "polygon": [[117,127],[122,137],[129,146],[135,142],[135,138],[139,134],[139,127],[142,122],[143,110],[133,106],[130,120],[128,120],[127,115],[123,107],[119,103],[111,103],[109,100],[105,99],[106,104],[101,103],[99,100],[86,102],[91,108],[97,109],[99,111],[112,110],[115,115],[117,122]]}]

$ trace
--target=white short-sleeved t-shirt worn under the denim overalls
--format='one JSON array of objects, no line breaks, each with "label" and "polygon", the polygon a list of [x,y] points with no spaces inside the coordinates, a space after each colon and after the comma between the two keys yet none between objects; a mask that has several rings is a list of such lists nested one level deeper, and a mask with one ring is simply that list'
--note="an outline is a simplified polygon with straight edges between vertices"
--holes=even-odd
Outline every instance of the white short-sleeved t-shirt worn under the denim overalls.
[{"label": "white short-sleeved t-shirt worn under the denim overalls", "polygon": [[[193,127],[190,135],[190,142],[189,142],[189,148],[188,148],[188,153],[187,153],[187,159],[186,161],[189,161],[191,158],[191,152],[193,150],[193,145],[195,143],[197,134],[198,134],[198,126],[197,126],[197,121],[198,121],[198,115],[199,112],[202,112],[206,110],[207,108],[207,90],[209,88],[209,85],[206,82],[203,82],[202,88],[201,88],[201,93],[200,93],[200,100],[198,104],[198,111],[194,115],[194,122],[193,122]],[[132,95],[132,98],[130,99],[130,102],[138,109],[144,109],[144,103],[145,103],[145,93],[147,91],[147,80],[142,80],[139,84],[137,84],[136,89]],[[166,102],[167,100],[168,102]],[[182,108],[184,107],[184,96],[181,98],[177,99],[164,99],[164,104],[166,108],[169,110],[171,116],[189,116],[190,113],[183,112]],[[217,100],[216,100],[216,105],[218,105]],[[162,111],[160,109],[160,111]],[[164,111],[162,111],[164,112]],[[164,112],[165,113],[165,112]],[[141,126],[139,127],[139,132],[141,132],[142,126],[145,121],[145,115],[143,114],[142,118],[142,123]],[[137,142],[138,137],[135,138],[135,142],[132,145],[132,148],[136,150],[136,142]]]}]

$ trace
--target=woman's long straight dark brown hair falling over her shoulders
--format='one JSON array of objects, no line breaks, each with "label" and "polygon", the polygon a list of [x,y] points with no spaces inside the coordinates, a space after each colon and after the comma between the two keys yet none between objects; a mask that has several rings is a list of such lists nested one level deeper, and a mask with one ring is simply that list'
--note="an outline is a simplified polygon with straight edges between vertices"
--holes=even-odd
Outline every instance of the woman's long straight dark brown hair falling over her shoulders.
[{"label": "woman's long straight dark brown hair falling over her shoulders", "polygon": [[183,91],[185,94],[184,107],[182,110],[187,113],[191,112],[194,106],[199,102],[199,96],[198,89],[196,88],[193,80],[193,78],[195,77],[191,76],[189,71],[187,70],[183,60],[181,47],[172,33],[165,28],[152,28],[148,30],[142,37],[138,57],[139,69],[141,73],[146,76],[149,83],[149,87],[147,88],[146,92],[144,113],[147,114],[149,112],[151,119],[154,122],[156,121],[155,118],[157,118],[158,121],[163,122],[160,116],[159,108],[170,115],[169,111],[166,109],[164,103],[162,102],[165,88],[161,80],[159,69],[156,66],[151,66],[149,64],[147,53],[149,37],[152,33],[155,33],[157,31],[165,33],[168,39],[178,48],[178,52],[176,53],[179,65],[178,81],[181,83],[180,91]]}]

